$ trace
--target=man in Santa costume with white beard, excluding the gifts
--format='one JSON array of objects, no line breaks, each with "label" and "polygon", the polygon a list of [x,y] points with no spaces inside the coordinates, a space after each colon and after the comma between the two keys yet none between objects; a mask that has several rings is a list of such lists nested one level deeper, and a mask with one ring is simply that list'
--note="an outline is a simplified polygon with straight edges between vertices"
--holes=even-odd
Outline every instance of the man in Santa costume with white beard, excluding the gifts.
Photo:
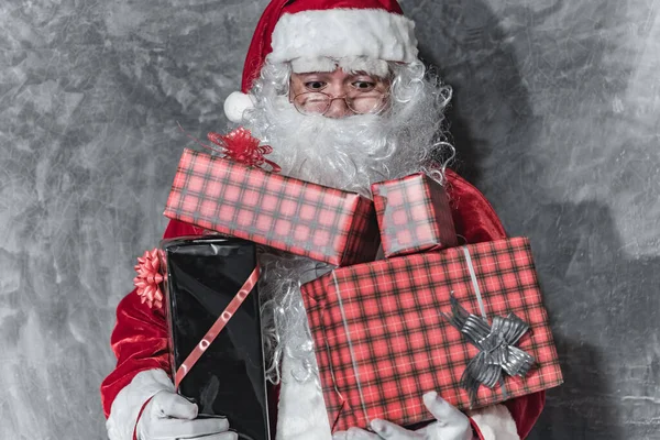
[{"label": "man in Santa costume with white beard, excluding the gifts", "polygon": [[[414,28],[395,0],[273,0],[227,117],[273,146],[284,175],[370,197],[372,183],[424,169],[448,188],[465,242],[504,238],[485,198],[444,168],[441,157],[453,151],[441,132],[451,89],[418,59]],[[165,238],[200,233],[172,221]],[[276,439],[332,439],[300,297],[301,283],[318,276],[319,266],[277,253],[264,253],[260,264]],[[101,385],[110,439],[238,439],[227,419],[197,419],[197,406],[174,392],[167,334],[162,309],[135,292],[120,302],[111,340],[118,363]],[[352,428],[334,438],[525,438],[544,394],[466,415],[435,393],[424,399],[436,421],[422,429],[373,420],[370,431]]]}]

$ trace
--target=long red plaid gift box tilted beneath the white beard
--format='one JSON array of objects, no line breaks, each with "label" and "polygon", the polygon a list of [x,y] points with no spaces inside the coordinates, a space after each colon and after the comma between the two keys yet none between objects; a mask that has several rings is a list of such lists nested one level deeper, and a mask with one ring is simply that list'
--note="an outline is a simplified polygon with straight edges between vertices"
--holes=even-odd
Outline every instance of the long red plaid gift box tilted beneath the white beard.
[{"label": "long red plaid gift box tilted beneath the white beard", "polygon": [[378,249],[371,200],[187,148],[164,213],[338,266]]}]

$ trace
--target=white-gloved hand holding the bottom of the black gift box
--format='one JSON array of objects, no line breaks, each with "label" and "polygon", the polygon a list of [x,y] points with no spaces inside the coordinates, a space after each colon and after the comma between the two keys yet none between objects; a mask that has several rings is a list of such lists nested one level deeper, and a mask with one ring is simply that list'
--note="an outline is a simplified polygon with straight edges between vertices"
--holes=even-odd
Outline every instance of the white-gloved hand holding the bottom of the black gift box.
[{"label": "white-gloved hand holding the bottom of the black gift box", "polygon": [[168,391],[158,392],[138,421],[138,440],[238,440],[226,418],[196,417],[196,404]]}]

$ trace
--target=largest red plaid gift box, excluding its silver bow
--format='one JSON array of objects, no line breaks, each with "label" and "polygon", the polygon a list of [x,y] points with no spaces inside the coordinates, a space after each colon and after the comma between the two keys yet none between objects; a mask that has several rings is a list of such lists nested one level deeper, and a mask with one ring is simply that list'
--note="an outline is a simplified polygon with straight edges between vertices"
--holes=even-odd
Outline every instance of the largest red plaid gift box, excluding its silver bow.
[{"label": "largest red plaid gift box, excluding its silver bow", "polygon": [[428,420],[421,396],[429,391],[470,408],[459,384],[479,350],[441,316],[451,314],[452,293],[488,322],[514,312],[530,324],[516,346],[535,358],[535,366],[525,378],[505,375],[505,389],[481,386],[473,408],[563,382],[525,238],[343,267],[302,292],[333,431],[366,427],[374,418],[402,426]]}]

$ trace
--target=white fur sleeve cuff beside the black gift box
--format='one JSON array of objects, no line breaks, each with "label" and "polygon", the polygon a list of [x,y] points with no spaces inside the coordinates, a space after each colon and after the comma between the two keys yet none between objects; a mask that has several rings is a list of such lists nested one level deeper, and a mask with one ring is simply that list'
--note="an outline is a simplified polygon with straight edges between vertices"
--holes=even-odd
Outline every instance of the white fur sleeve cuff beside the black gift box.
[{"label": "white fur sleeve cuff beside the black gift box", "polygon": [[155,369],[138,373],[112,402],[110,416],[106,421],[108,438],[110,440],[133,440],[133,431],[142,406],[163,389],[174,392],[174,384],[163,370]]}]

